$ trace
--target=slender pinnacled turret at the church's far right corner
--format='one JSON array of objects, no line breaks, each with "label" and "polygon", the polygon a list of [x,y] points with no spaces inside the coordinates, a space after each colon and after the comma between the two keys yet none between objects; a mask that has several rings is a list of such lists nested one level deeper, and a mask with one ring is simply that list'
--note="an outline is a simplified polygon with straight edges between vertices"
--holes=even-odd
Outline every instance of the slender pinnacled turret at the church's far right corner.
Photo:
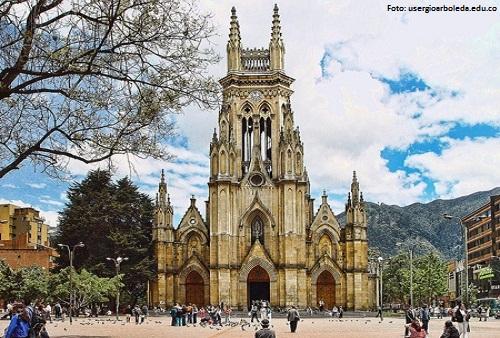
[{"label": "slender pinnacled turret at the church's far right corner", "polygon": [[351,192],[347,197],[345,213],[346,305],[350,309],[367,309],[370,298],[367,218],[363,193],[359,190],[356,172],[353,172]]}]

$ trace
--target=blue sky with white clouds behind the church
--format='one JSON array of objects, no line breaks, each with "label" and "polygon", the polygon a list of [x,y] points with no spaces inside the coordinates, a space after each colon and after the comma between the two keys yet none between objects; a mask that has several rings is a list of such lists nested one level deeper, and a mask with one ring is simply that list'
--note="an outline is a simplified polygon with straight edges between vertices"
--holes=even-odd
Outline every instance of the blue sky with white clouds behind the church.
[{"label": "blue sky with white clouds behind the church", "polygon": [[[500,7],[499,0],[481,4]],[[218,35],[211,43],[222,56],[211,74],[226,73],[231,7],[243,47],[267,48],[273,5],[200,1],[200,10],[213,15]],[[291,104],[316,201],[326,190],[334,212],[342,212],[353,170],[366,200],[401,206],[500,186],[500,10],[392,12],[375,0],[282,0],[278,6],[285,72],[296,79]],[[165,169],[175,219],[191,195],[204,215],[217,115],[186,109],[169,146],[173,162],[134,159],[131,171],[119,157],[116,177],[130,176],[153,197]],[[79,181],[90,168],[72,163],[70,171]],[[56,225],[69,184],[25,166],[0,180],[0,203],[33,206]]]}]

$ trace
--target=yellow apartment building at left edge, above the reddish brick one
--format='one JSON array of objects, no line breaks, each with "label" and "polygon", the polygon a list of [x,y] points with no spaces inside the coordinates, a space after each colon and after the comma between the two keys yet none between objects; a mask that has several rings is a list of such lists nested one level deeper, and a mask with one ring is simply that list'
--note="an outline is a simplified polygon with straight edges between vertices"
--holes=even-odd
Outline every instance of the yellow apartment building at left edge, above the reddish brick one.
[{"label": "yellow apartment building at left edge, above the reddish brick one", "polygon": [[0,204],[0,240],[15,240],[23,234],[33,244],[49,245],[49,225],[30,207]]}]

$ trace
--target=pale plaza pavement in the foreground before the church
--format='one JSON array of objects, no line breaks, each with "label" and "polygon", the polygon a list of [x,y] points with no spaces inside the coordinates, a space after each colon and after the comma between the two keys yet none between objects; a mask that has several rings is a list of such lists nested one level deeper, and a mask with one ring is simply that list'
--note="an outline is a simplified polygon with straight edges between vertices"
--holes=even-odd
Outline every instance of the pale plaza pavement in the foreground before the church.
[{"label": "pale plaza pavement in the foreground before the church", "polygon": [[[201,327],[199,324],[189,327],[172,327],[168,317],[152,317],[142,325],[135,323],[125,324],[123,321],[114,321],[112,318],[83,319],[79,318],[69,325],[54,322],[47,324],[51,338],[204,338],[204,337],[235,337],[253,338],[256,326],[224,326],[223,328]],[[247,318],[244,318],[247,320]],[[430,338],[439,338],[446,319],[432,319],[430,322]],[[233,321],[239,321],[234,318]],[[0,323],[3,330],[7,321]],[[403,337],[404,320],[401,318],[385,318],[380,322],[376,318],[346,318],[343,320],[331,318],[304,318],[298,325],[297,332],[292,334],[286,325],[286,320],[276,318],[272,320],[273,330],[280,337],[342,337],[342,338],[400,338]],[[487,322],[471,321],[470,338],[499,338],[500,320],[490,319]]]}]

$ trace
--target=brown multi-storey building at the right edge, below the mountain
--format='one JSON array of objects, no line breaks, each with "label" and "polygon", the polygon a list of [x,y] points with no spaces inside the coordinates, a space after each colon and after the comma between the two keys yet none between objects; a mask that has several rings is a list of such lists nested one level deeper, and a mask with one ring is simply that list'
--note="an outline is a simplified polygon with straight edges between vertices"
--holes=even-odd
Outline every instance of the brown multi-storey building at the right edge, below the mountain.
[{"label": "brown multi-storey building at the right edge, below the mountain", "polygon": [[469,280],[479,297],[500,296],[500,195],[462,218],[467,227]]}]

